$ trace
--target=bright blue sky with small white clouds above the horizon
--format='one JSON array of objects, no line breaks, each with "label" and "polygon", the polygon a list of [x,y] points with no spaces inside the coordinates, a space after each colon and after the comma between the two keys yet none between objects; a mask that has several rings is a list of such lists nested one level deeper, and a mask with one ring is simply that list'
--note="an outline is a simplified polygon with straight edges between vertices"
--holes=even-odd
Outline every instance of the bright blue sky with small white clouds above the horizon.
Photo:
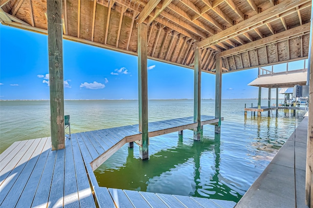
[{"label": "bright blue sky with small white clouds above the horizon", "polygon": [[[137,99],[137,57],[63,42],[65,99]],[[0,24],[0,99],[48,100],[47,36]],[[148,60],[149,99],[193,99],[193,70]],[[270,68],[270,67],[269,67]],[[303,61],[289,65],[303,68]],[[286,70],[286,64],[274,71]],[[256,98],[247,86],[257,69],[223,74],[222,99]],[[203,99],[215,98],[215,76],[202,72]],[[262,97],[267,97],[267,89]],[[275,93],[272,93],[275,94]],[[275,95],[274,95],[275,96]]]}]

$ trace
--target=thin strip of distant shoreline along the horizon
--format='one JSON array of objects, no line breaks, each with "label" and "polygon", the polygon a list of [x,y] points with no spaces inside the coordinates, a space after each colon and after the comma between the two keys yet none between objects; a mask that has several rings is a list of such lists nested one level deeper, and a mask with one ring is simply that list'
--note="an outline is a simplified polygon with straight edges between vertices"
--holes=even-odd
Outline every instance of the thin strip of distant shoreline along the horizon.
[{"label": "thin strip of distant shoreline along the horizon", "polygon": [[[193,99],[149,99],[149,101],[176,101],[176,100],[193,100]],[[212,98],[209,99],[201,99],[201,100],[215,100]],[[233,99],[222,99],[222,100],[258,100],[257,98],[233,98]],[[261,100],[268,100],[268,98],[262,98]],[[276,98],[271,98],[270,100],[276,100]],[[283,98],[279,98],[278,100],[284,100]],[[0,100],[0,101],[49,101],[49,100]],[[65,99],[65,101],[138,101],[137,99],[101,99],[101,100],[67,100]]]}]

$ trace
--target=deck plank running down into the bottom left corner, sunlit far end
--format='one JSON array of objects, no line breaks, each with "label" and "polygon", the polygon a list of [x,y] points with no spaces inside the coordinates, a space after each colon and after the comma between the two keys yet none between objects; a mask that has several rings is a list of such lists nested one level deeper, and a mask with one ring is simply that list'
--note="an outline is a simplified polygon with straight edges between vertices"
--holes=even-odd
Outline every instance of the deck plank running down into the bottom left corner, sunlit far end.
[{"label": "deck plank running down into the bottom left corner, sunlit far end", "polygon": [[[20,175],[15,181],[14,185],[11,187],[10,191],[7,193],[7,196],[4,196],[4,200],[0,206],[10,207],[15,206],[22,194],[24,187],[35,168],[38,159],[41,156],[42,151],[44,150],[46,139],[41,139],[38,146],[35,148],[31,158],[26,162],[27,164],[22,169]],[[2,190],[3,191],[3,190]],[[2,192],[1,191],[1,192]],[[1,193],[2,195],[2,193]],[[33,197],[33,196],[32,196]]]}]

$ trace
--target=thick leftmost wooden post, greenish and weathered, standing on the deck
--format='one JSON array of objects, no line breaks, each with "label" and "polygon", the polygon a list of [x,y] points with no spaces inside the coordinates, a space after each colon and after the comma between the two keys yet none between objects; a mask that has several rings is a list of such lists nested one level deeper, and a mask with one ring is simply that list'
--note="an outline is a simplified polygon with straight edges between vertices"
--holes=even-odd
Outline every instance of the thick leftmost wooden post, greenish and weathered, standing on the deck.
[{"label": "thick leftmost wooden post, greenish and weathered, standing on the deck", "polygon": [[47,1],[52,150],[65,148],[62,0]]}]

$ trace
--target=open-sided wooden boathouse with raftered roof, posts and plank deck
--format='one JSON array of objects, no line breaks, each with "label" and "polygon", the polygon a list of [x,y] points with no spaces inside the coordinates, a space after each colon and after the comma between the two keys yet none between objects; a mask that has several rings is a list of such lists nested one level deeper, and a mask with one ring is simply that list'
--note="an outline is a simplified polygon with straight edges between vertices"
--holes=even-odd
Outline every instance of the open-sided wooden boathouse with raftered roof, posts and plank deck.
[{"label": "open-sided wooden boathouse with raftered roof, posts and plank deck", "polygon": [[[164,134],[194,128],[194,139],[199,140],[201,125],[212,124],[219,134],[223,73],[309,59],[306,84],[312,83],[311,13],[311,0],[0,0],[2,24],[48,35],[51,111],[51,138],[16,143],[1,154],[5,174],[0,174],[0,206],[5,207],[5,203],[18,207],[62,207],[72,203],[81,207],[116,206],[114,191],[97,186],[92,173],[97,166],[95,161],[105,161],[120,146],[134,141],[140,146],[141,158],[147,159],[149,136],[153,132]],[[94,141],[76,136],[70,142],[65,140],[63,39],[138,57],[138,129],[92,132],[98,138]],[[149,124],[148,128],[147,59],[194,70],[194,116],[168,122],[170,126],[165,129],[171,131],[164,131],[160,124],[155,124],[154,129],[149,129]],[[201,73],[216,76],[213,118],[201,117]],[[309,108],[313,108],[312,96],[311,84]],[[313,207],[312,118],[311,110],[305,191],[310,207]],[[107,134],[114,135],[114,146],[103,145]],[[32,148],[25,146],[38,148],[31,152]],[[17,149],[23,154],[15,161],[12,158]],[[64,174],[67,170],[72,172]],[[36,171],[42,175],[32,175]],[[52,171],[60,177],[52,177]],[[47,183],[49,180],[51,183]],[[120,202],[128,200],[125,206],[223,204],[120,191],[116,194]]]}]

